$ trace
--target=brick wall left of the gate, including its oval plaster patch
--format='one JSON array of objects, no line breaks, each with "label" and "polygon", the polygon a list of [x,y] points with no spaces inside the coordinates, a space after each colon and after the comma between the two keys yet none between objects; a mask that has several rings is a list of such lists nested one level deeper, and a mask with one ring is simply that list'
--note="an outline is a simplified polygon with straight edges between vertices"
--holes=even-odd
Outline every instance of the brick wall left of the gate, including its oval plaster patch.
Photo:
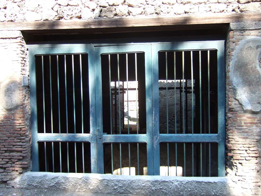
[{"label": "brick wall left of the gate, including its oval plaster patch", "polygon": [[0,181],[16,178],[30,163],[27,51],[20,31],[0,31]]}]

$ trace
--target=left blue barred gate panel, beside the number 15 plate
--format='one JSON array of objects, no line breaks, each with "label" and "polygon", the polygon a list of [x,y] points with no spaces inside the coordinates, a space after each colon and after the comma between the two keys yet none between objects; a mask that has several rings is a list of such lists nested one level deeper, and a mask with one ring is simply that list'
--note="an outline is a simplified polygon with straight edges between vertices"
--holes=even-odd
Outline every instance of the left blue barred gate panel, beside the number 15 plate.
[{"label": "left blue barred gate panel, beside the number 15 plate", "polygon": [[29,53],[33,171],[97,173],[91,46]]}]

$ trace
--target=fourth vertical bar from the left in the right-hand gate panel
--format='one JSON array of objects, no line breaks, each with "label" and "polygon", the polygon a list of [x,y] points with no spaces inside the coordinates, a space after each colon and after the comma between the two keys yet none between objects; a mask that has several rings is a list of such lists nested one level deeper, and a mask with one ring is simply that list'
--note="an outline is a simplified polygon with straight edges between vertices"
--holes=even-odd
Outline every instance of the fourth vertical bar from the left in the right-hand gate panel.
[{"label": "fourth vertical bar from the left in the right-hand gate panel", "polygon": [[[192,134],[194,134],[194,82],[193,82],[193,52],[190,52],[191,57],[191,129]],[[192,176],[194,176],[194,143],[192,143]]]}]

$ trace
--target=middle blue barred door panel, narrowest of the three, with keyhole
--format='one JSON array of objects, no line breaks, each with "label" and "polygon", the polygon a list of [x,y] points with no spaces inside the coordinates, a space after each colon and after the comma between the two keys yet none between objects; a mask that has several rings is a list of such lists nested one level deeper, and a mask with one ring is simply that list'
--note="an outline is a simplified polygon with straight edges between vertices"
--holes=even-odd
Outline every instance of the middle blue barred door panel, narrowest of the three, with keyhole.
[{"label": "middle blue barred door panel, narrowest of the three, with keyhole", "polygon": [[151,45],[94,55],[98,173],[153,175]]}]

